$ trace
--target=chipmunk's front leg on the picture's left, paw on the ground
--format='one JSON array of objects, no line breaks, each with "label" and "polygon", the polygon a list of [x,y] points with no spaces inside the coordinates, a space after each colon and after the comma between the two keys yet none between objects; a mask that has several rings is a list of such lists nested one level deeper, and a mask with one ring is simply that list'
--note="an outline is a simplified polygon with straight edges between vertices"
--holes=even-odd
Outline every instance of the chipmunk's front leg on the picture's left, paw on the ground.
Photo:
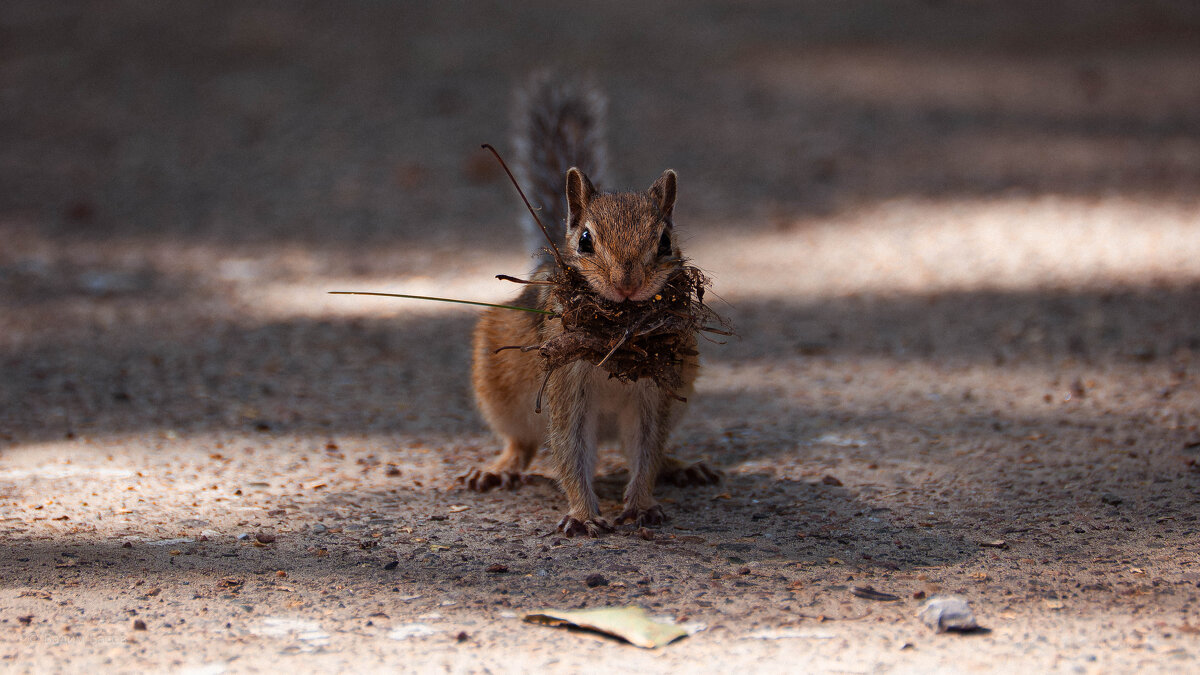
[{"label": "chipmunk's front leg on the picture's left, paw on the ground", "polygon": [[[590,364],[572,364],[551,375],[547,383],[550,449],[558,470],[558,484],[566,492],[568,512],[558,530],[568,537],[596,537],[611,532],[600,518],[592,480],[596,464],[596,411],[590,405]],[[587,369],[587,370],[586,370]]]}]

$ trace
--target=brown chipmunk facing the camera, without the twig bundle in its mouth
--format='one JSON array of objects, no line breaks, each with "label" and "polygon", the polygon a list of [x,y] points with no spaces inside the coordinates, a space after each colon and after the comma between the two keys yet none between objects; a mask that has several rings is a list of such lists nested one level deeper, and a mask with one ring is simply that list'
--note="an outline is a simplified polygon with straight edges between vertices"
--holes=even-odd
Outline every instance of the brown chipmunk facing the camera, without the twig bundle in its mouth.
[{"label": "brown chipmunk facing the camera, without the twig bundle in its mouth", "polygon": [[[672,213],[677,177],[662,172],[644,192],[601,192],[583,169],[602,177],[605,100],[595,90],[535,78],[518,91],[515,115],[515,168],[530,187],[533,203],[563,262],[583,275],[590,291],[613,303],[653,298],[683,265]],[[533,280],[546,279],[556,261],[544,233],[528,227],[530,247],[541,251]],[[556,311],[546,286],[530,285],[511,303]],[[696,357],[680,364],[683,388],[671,393],[649,378],[620,382],[592,363],[578,360],[546,375],[536,352],[498,351],[533,345],[560,334],[547,315],[492,309],[474,331],[472,382],[480,411],[504,449],[485,470],[460,477],[469,489],[515,488],[538,449],[548,442],[569,509],[558,530],[568,537],[612,531],[600,515],[593,489],[596,444],[618,440],[629,461],[624,509],[616,522],[664,522],[654,501],[656,479],[679,485],[708,484],[719,473],[704,464],[686,465],[666,453],[667,436],[692,392]],[[692,347],[695,338],[692,336]],[[695,353],[694,350],[689,352]],[[545,387],[545,410],[534,401]]]}]

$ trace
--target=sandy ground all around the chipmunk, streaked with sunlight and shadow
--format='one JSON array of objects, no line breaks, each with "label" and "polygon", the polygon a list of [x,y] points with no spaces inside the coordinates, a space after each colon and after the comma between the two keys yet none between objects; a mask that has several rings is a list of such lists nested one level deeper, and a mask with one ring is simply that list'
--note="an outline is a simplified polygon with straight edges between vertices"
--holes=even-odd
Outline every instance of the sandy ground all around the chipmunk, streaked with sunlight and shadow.
[{"label": "sandy ground all around the chipmunk, streaked with sunlight and shadow", "polygon": [[[0,663],[1200,668],[1200,14],[1043,5],[5,2]],[[478,147],[546,65],[740,335],[650,540],[455,486],[472,310],[325,294],[511,293]],[[698,632],[520,619],[619,604]]]}]

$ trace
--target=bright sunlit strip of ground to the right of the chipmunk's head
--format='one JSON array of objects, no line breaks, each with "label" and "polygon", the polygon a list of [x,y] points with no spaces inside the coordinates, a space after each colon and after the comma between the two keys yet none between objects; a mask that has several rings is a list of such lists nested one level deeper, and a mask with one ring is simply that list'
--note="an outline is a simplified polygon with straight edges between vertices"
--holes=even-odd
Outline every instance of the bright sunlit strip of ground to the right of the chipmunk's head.
[{"label": "bright sunlit strip of ground to the right of the chipmunk's head", "polygon": [[728,299],[1200,280],[1200,209],[1152,198],[896,199],[689,255]]}]

